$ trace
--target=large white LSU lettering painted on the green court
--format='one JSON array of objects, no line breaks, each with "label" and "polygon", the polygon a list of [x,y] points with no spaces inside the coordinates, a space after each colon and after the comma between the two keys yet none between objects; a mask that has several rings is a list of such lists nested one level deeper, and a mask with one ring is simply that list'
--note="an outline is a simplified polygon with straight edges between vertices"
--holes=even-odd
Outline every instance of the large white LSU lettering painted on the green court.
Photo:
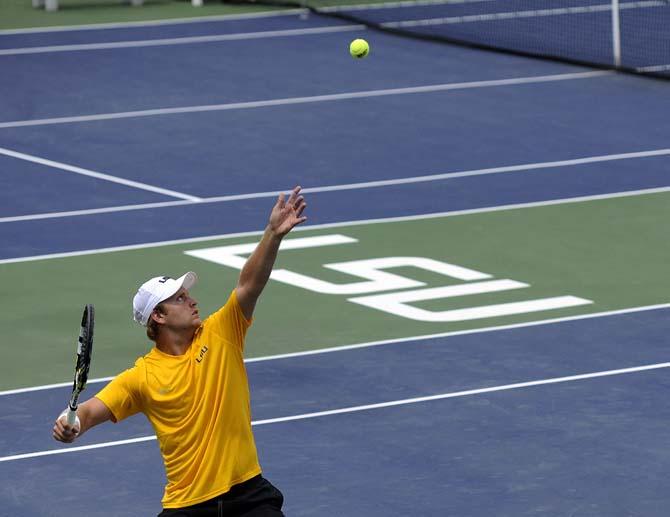
[{"label": "large white LSU lettering painted on the green court", "polygon": [[[296,250],[356,242],[358,242],[357,239],[346,235],[320,235],[287,239],[282,242],[280,249]],[[252,253],[256,245],[257,243],[234,244],[232,246],[189,250],[184,253],[223,266],[242,269],[246,262],[242,255]],[[349,283],[333,283],[288,269],[276,269],[272,271],[270,278],[319,294],[343,296],[348,302],[357,305],[401,318],[424,322],[451,323],[565,309],[593,303],[592,300],[577,296],[559,295],[436,311],[417,307],[413,303],[430,300],[448,301],[472,295],[525,289],[530,287],[530,284],[509,278],[496,279],[489,273],[429,257],[406,255],[335,262],[323,264],[323,267],[358,277],[358,279]],[[445,277],[446,283],[445,285],[428,287],[420,280],[387,271],[388,269],[408,267],[441,275]]]}]

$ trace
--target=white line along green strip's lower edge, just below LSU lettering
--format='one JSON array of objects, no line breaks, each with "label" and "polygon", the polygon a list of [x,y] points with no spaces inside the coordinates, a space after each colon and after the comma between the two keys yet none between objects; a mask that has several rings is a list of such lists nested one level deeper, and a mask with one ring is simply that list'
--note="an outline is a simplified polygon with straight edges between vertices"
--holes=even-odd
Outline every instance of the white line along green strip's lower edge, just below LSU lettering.
[{"label": "white line along green strip's lower edge, just below LSU lettering", "polygon": [[[589,314],[577,314],[574,316],[563,316],[561,318],[551,318],[546,320],[535,320],[535,321],[526,321],[524,323],[513,323],[509,325],[498,325],[495,327],[483,327],[477,329],[467,329],[467,330],[456,330],[451,332],[440,332],[437,334],[423,334],[418,336],[409,336],[402,338],[393,338],[393,339],[383,339],[380,341],[369,341],[366,343],[355,343],[353,345],[341,345],[328,348],[318,348],[314,350],[303,350],[301,352],[289,352],[285,354],[276,354],[276,355],[267,355],[262,357],[251,357],[244,360],[245,363],[260,363],[265,361],[276,361],[279,359],[291,359],[294,357],[303,357],[308,355],[320,355],[320,354],[329,354],[333,352],[345,352],[347,350],[357,350],[359,348],[370,348],[376,346],[392,345],[397,343],[406,343],[408,341],[427,341],[431,339],[438,338],[449,338],[455,336],[467,336],[471,334],[482,334],[487,332],[502,332],[505,330],[514,330],[527,327],[539,327],[542,325],[554,325],[556,323],[565,323],[570,321],[579,321],[579,320],[589,320],[596,318],[606,318],[610,316],[620,316],[623,314],[633,314],[636,312],[647,312],[655,311],[662,309],[670,309],[670,303],[662,303],[657,305],[645,305],[640,307],[629,307],[627,309],[617,309],[613,311],[606,312],[593,312]],[[99,377],[96,379],[89,379],[88,384],[97,384],[101,382],[111,381],[114,376],[110,377]],[[69,382],[59,382],[56,384],[44,384],[42,386],[31,386],[28,388],[16,388],[12,390],[0,391],[0,397],[7,395],[20,395],[22,393],[30,393],[33,391],[45,391],[58,388],[71,387],[72,381]]]}]

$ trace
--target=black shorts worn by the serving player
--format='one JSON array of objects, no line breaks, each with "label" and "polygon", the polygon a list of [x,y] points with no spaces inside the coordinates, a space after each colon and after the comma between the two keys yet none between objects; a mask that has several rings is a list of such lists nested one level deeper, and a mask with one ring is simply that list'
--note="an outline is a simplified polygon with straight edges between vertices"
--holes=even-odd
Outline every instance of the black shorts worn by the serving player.
[{"label": "black shorts worn by the serving player", "polygon": [[204,503],[167,508],[158,517],[283,517],[284,496],[260,474]]}]

